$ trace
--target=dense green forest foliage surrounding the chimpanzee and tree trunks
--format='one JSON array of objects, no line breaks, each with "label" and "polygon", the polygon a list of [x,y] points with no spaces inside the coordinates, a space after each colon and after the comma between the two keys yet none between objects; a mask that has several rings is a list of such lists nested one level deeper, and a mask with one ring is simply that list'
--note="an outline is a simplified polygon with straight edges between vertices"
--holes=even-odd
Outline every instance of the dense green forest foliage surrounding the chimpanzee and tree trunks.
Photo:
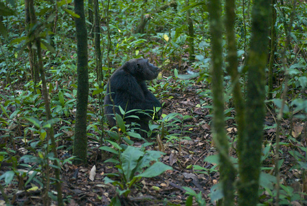
[{"label": "dense green forest foliage surrounding the chimpanzee and tree trunks", "polygon": [[[94,193],[95,201],[99,199],[100,204],[132,204],[133,197],[144,190],[151,192],[144,202],[155,194],[161,205],[192,205],[192,197],[198,205],[210,201],[216,203],[223,198],[223,192],[216,181],[219,178],[216,164],[220,160],[214,155],[216,150],[212,148],[214,144],[209,131],[212,120],[212,76],[209,72],[212,51],[209,45],[212,38],[207,1],[99,1],[101,68],[96,61],[99,54],[94,45],[93,1],[84,2],[87,26],[84,32],[88,34],[89,166],[81,168],[84,176],[79,177],[71,163],[76,125],[75,18],[78,18],[73,12],[73,1],[34,1],[36,22],[27,21],[24,1],[0,1],[0,203],[43,203],[41,199],[32,198],[37,194],[56,201],[55,179],[50,179],[50,190],[46,192],[54,168],[61,169],[62,188],[68,191],[69,186],[77,187],[76,179],[87,181],[89,176],[91,179],[93,173],[86,169],[93,165],[100,165],[99,175],[104,176],[104,183],[113,184],[101,187],[104,192]],[[273,43],[269,46],[271,55],[266,70],[268,74],[272,71],[272,76],[266,77],[259,201],[263,205],[276,201],[285,205],[304,205],[307,195],[307,4],[295,0],[272,2],[275,16],[272,12],[271,34],[267,38]],[[224,1],[221,8],[224,18]],[[252,8],[253,1],[236,1],[234,32],[240,76],[236,81],[240,83],[243,98],[249,84],[246,78],[249,68],[245,66],[251,41]],[[193,36],[191,32],[194,32]],[[30,55],[37,49],[34,43],[37,39],[43,49],[51,120],[46,117],[42,82],[33,70],[38,57]],[[226,42],[226,36],[222,34],[224,91],[221,92],[225,99],[229,155],[237,168],[237,124],[232,95],[237,82],[231,82],[226,69],[229,63]],[[120,115],[118,129],[111,130],[103,112],[106,82],[113,71],[127,60],[141,57],[150,59],[162,70],[158,80],[148,85],[163,103],[161,119],[149,125],[149,135],[158,134],[157,139],[142,139]],[[58,158],[51,152],[52,144],[48,138],[52,126]],[[133,158],[129,159],[127,155]],[[58,161],[60,166],[54,165],[53,161]],[[158,165],[159,169],[155,170],[153,165]],[[159,176],[162,172],[166,172],[163,178]],[[185,181],[178,181],[183,179],[182,176]],[[148,185],[152,184],[149,189],[145,178],[150,179]],[[166,179],[167,186],[161,183]],[[203,184],[199,185],[198,179]],[[178,181],[178,185],[170,183],[172,181]],[[179,192],[163,196],[163,192],[155,192],[161,191],[159,187],[177,188]],[[67,203],[71,199],[79,200],[76,193],[67,191],[63,192]],[[81,200],[78,204],[85,202]]]}]

